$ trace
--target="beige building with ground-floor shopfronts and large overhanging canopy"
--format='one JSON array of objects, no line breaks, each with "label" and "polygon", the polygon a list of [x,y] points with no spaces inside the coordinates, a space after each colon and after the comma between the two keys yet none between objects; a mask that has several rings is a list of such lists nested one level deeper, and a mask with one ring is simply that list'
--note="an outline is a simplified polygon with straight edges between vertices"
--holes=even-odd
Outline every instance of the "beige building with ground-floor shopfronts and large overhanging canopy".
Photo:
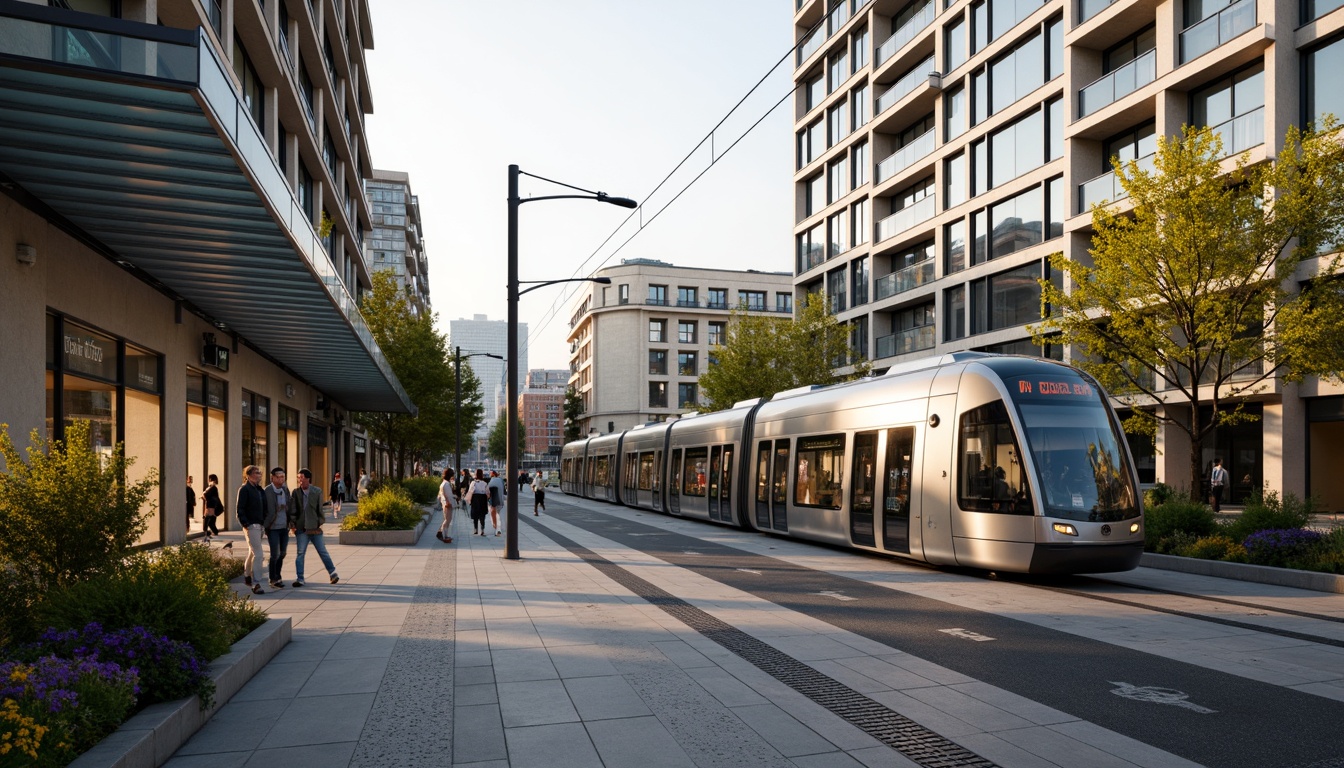
[{"label": "beige building with ground-floor shopfronts and large overhanging canopy", "polygon": [[242,467],[378,471],[351,410],[406,412],[356,297],[372,168],[364,0],[0,7],[0,422],[125,443],[145,543]]}]

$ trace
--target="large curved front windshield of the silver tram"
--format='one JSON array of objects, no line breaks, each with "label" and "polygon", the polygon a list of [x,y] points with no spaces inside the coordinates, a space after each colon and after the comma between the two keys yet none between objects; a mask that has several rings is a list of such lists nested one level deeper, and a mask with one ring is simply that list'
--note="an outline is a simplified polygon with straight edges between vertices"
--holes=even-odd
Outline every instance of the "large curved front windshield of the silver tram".
[{"label": "large curved front windshield of the silver tram", "polygon": [[1087,522],[1138,516],[1129,460],[1101,390],[1067,370],[1005,383],[1039,472],[1042,514]]}]

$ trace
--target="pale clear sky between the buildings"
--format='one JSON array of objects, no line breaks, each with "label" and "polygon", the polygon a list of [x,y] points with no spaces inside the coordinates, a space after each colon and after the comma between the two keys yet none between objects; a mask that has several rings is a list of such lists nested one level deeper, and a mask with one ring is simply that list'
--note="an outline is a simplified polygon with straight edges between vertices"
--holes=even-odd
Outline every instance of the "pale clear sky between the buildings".
[{"label": "pale clear sky between the buildings", "polygon": [[[775,67],[793,43],[792,5],[370,0],[370,151],[375,168],[410,174],[439,330],[507,319],[509,164],[642,203],[521,206],[523,281],[583,277],[622,258],[792,270],[792,59]],[[702,144],[711,130],[712,163]],[[566,192],[520,183],[523,198]],[[521,297],[530,369],[569,367],[569,317],[587,286]]]}]

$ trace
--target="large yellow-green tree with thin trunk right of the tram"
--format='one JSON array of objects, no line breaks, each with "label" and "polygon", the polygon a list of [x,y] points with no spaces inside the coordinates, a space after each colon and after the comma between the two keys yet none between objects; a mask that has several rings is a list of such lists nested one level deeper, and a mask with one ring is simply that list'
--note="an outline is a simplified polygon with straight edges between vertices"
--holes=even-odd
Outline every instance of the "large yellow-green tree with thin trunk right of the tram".
[{"label": "large yellow-green tree with thin trunk right of the tram", "polygon": [[[1184,432],[1192,486],[1212,430],[1253,418],[1241,395],[1344,370],[1340,258],[1318,257],[1344,242],[1333,118],[1290,128],[1274,163],[1223,156],[1218,133],[1187,128],[1159,139],[1152,171],[1116,163],[1133,211],[1093,207],[1090,261],[1051,257],[1068,284],[1040,281],[1050,315],[1031,328],[1133,406],[1126,430]],[[1300,266],[1314,277],[1298,284]]]}]

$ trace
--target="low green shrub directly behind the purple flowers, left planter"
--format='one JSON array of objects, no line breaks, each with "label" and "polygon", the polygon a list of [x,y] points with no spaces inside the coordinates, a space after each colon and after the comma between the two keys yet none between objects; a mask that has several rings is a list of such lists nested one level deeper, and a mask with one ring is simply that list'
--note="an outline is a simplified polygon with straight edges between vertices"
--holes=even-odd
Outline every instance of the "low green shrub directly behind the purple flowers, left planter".
[{"label": "low green shrub directly behind the purple flowers, left planter", "polygon": [[137,554],[114,574],[55,589],[35,613],[38,624],[56,629],[91,621],[109,629],[145,627],[214,659],[258,625],[258,612],[239,605],[247,601],[228,586],[208,546],[184,543]]}]

